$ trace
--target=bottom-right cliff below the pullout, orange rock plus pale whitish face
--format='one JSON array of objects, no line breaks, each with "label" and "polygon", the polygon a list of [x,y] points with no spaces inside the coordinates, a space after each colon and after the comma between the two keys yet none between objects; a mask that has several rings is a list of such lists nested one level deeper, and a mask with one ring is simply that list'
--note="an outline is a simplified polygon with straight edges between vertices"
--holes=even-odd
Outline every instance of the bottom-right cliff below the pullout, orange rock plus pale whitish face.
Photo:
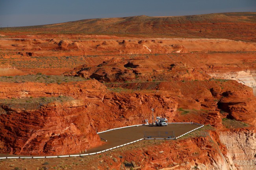
[{"label": "bottom-right cliff below the pullout, orange rock plus pale whitish face", "polygon": [[104,162],[98,168],[137,165],[141,170],[252,170],[254,141],[255,133],[247,133],[245,129],[221,134],[209,131],[204,136],[183,137],[178,141],[143,141],[128,150],[117,149],[111,154],[115,162],[102,155],[99,159]]}]

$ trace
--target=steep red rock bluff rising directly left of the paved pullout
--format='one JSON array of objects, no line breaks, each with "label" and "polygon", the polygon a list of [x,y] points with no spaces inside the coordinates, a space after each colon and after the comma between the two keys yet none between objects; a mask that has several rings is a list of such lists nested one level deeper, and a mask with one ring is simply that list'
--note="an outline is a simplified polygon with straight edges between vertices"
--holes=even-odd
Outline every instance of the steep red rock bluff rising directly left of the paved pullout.
[{"label": "steep red rock bluff rising directly left of the paved pullout", "polygon": [[54,102],[36,110],[2,104],[1,153],[56,155],[78,153],[102,144],[81,101]]}]

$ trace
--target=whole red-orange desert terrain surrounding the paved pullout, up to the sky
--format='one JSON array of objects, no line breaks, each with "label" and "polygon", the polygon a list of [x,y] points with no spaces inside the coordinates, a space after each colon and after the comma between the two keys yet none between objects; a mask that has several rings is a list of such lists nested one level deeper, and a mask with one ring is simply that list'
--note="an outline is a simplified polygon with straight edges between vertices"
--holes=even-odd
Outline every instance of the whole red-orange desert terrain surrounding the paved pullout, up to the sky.
[{"label": "whole red-orange desert terrain surrounding the paved pullout, up to the sky", "polygon": [[0,170],[255,170],[256,13],[0,29],[0,157],[90,151],[106,144],[97,132],[152,123],[152,108],[204,127]]}]

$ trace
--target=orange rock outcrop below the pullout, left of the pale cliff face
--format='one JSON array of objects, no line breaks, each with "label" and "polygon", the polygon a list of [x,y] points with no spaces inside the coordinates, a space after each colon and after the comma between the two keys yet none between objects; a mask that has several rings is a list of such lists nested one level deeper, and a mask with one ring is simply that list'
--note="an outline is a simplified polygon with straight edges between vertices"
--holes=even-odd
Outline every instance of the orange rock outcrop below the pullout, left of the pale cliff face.
[{"label": "orange rock outcrop below the pullout, left of the pale cliff face", "polygon": [[[149,144],[147,141],[139,145],[136,149],[117,151],[115,156],[123,155],[123,158],[117,157],[116,163],[104,157],[105,164],[100,168],[120,168],[123,164],[132,163],[140,166],[141,170],[237,170],[233,162],[226,159],[225,145],[221,144],[219,133],[210,132],[204,137],[195,137],[181,139],[178,141],[156,142]],[[143,147],[140,147],[143,146]],[[136,147],[136,146],[135,146]],[[110,164],[109,164],[110,162]]]}]

